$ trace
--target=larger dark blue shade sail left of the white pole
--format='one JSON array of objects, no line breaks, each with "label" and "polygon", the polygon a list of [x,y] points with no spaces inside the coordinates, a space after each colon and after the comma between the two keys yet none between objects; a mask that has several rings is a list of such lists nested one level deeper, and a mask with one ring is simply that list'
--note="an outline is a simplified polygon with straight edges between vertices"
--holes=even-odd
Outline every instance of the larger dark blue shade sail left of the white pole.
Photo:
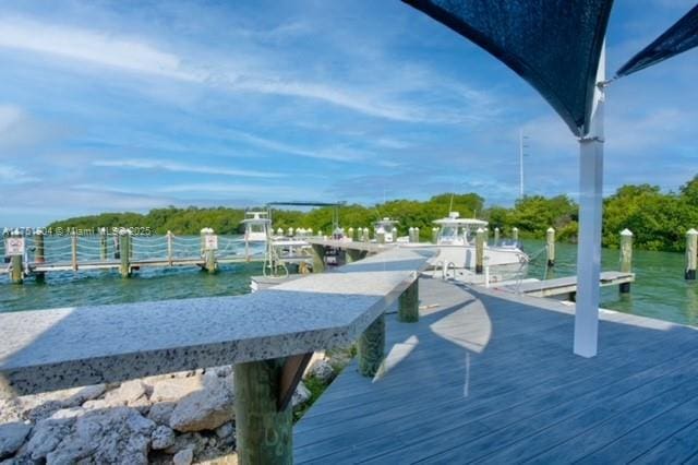
[{"label": "larger dark blue shade sail left of the white pole", "polygon": [[576,135],[589,131],[613,0],[402,0],[498,58]]}]

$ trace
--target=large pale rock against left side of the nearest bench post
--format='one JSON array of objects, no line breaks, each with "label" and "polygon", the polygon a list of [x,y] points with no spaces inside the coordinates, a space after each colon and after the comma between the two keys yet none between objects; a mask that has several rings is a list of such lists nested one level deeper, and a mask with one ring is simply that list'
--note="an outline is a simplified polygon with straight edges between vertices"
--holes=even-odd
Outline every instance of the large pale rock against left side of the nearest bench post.
[{"label": "large pale rock against left side of the nearest bench post", "polygon": [[214,430],[233,418],[232,379],[209,379],[204,389],[192,392],[177,403],[170,417],[170,428],[182,432]]}]

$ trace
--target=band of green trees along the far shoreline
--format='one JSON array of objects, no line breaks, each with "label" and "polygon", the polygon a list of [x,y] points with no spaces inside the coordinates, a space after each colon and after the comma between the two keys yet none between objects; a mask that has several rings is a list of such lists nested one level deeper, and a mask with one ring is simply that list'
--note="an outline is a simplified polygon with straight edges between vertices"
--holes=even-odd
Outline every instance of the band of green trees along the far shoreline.
[{"label": "band of green trees along the far shoreline", "polygon": [[[449,207],[450,205],[450,207]],[[477,216],[488,219],[490,228],[498,227],[502,237],[510,236],[512,228],[519,228],[521,238],[545,236],[553,226],[559,240],[575,241],[577,237],[577,204],[566,195],[544,198],[526,196],[513,207],[484,207],[484,199],[476,193],[443,193],[426,201],[393,200],[373,207],[346,205],[340,210],[344,227],[369,227],[382,217],[399,222],[400,235],[409,227],[419,227],[423,240],[431,236],[432,220],[444,217],[450,211],[464,217]],[[240,222],[244,211],[240,208],[188,208],[152,210],[147,214],[104,213],[56,222],[51,227],[149,227],[156,234],[171,230],[178,235],[196,235],[204,227],[218,234],[242,233]],[[274,211],[275,228],[313,228],[325,234],[332,229],[333,210],[315,208],[310,212]],[[659,187],[640,184],[623,186],[604,200],[603,242],[606,247],[618,247],[618,233],[624,228],[635,235],[637,248],[647,250],[681,251],[685,234],[698,228],[698,176],[684,184],[678,192],[663,193]]]}]

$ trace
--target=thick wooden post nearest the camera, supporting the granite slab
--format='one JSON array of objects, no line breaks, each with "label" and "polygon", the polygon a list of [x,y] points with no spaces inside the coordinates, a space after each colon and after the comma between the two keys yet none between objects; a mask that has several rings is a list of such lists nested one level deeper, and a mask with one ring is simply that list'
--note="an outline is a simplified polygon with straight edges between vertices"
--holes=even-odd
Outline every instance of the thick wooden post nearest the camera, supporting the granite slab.
[{"label": "thick wooden post nearest the camera, supporting the granite slab", "polygon": [[293,416],[278,409],[285,359],[234,366],[236,440],[241,465],[293,463]]}]

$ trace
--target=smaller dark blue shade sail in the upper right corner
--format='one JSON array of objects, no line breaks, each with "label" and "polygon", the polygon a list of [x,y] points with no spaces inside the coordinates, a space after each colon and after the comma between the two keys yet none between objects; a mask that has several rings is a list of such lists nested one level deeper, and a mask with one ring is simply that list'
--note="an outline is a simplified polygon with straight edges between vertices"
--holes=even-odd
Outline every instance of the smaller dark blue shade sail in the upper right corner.
[{"label": "smaller dark blue shade sail in the upper right corner", "polygon": [[626,76],[696,46],[698,46],[698,4],[633,57],[615,74],[618,78]]}]

